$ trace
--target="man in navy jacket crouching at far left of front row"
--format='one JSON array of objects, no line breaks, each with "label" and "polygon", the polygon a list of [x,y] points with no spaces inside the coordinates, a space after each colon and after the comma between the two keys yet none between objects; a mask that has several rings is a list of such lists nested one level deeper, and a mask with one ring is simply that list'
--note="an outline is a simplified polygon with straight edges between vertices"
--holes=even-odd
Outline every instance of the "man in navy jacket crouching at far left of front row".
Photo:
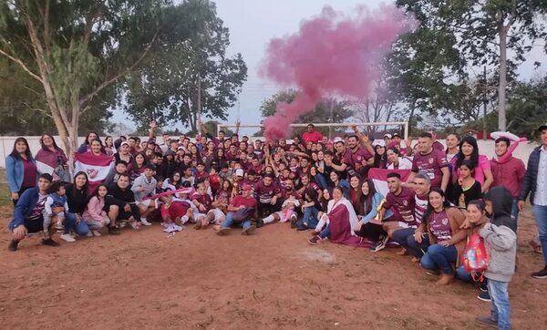
[{"label": "man in navy jacket crouching at far left of front row", "polygon": [[[17,251],[19,242],[23,241],[27,233],[42,232],[44,230],[44,216],[42,212],[46,207],[47,190],[51,185],[53,177],[44,173],[38,178],[37,187],[30,188],[21,194],[15,205],[14,219],[9,222],[8,229],[12,232],[12,240],[7,249],[11,252]],[[63,207],[52,209],[54,214],[64,211]],[[50,224],[53,230],[56,222]],[[49,239],[42,240],[42,244],[58,246],[59,243]]]}]

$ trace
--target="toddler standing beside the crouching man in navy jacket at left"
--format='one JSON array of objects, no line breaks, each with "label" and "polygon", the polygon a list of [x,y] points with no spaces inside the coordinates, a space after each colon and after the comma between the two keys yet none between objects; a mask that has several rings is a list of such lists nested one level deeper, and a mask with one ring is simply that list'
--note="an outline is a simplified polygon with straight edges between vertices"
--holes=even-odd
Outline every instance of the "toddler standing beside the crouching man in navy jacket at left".
[{"label": "toddler standing beside the crouching man in navy jacket at left", "polygon": [[[49,188],[49,195],[47,195],[46,203],[44,204],[44,211],[42,214],[44,216],[44,241],[48,242],[51,240],[49,235],[49,225],[51,224],[52,218],[56,217],[57,219],[57,229],[63,228],[63,222],[65,222],[65,212],[68,211],[67,203],[67,190],[65,186],[61,184],[60,181],[53,182]],[[58,212],[57,214],[53,213],[53,209],[62,207],[64,210]],[[66,232],[61,235],[61,239],[67,242],[74,242],[74,237],[70,233]]]}]

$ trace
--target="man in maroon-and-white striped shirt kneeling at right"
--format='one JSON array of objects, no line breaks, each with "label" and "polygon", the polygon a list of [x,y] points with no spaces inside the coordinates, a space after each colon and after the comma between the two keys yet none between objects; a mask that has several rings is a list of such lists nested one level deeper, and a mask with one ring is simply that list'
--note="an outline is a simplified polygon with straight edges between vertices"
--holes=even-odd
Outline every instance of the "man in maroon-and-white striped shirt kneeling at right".
[{"label": "man in maroon-and-white striped shirt kneeling at right", "polygon": [[[417,225],[422,222],[422,217],[428,210],[428,194],[431,188],[431,181],[424,173],[418,173],[412,181],[414,186],[414,218]],[[415,235],[422,237],[421,242],[415,240]],[[429,239],[426,231],[417,229],[417,226],[398,229],[393,232],[393,241],[398,242],[413,258],[414,263],[418,263],[424,252],[428,250]]]}]

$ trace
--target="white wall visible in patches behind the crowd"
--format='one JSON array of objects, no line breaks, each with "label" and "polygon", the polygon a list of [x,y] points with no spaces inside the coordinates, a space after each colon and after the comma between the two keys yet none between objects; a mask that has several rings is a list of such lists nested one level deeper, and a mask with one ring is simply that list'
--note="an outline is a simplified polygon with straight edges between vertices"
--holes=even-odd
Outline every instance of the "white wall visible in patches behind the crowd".
[{"label": "white wall visible in patches behind the crowd", "polygon": [[[28,140],[28,144],[30,146],[30,150],[32,151],[33,155],[36,154],[36,152],[40,149],[40,137],[25,137]],[[0,167],[5,167],[5,157],[11,153],[11,151],[14,149],[14,142],[17,137],[0,137]],[[57,141],[57,145],[62,148],[62,144],[60,143],[60,138],[55,137]],[[84,141],[84,137],[78,138],[78,142],[82,143]],[[148,137],[140,137],[142,141],[146,141]],[[253,139],[263,139],[263,138],[253,138]],[[444,143],[444,140],[440,139],[440,142]],[[494,141],[488,140],[483,141],[479,140],[479,150],[481,154],[484,154],[488,156],[488,158],[492,158],[494,156]],[[521,145],[513,152],[513,155],[517,158],[520,158],[524,163],[526,164],[528,162],[528,157],[530,156],[530,153],[532,150],[537,147],[538,145],[536,143],[521,143]]]}]

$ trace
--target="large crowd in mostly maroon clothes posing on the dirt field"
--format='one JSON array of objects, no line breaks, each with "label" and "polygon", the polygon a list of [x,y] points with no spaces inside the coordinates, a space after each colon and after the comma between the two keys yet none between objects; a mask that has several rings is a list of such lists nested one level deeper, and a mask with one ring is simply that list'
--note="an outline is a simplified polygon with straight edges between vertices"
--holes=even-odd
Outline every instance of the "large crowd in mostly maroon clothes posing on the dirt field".
[{"label": "large crowd in mostly maroon clothes posing on the dirt field", "polygon": [[[539,235],[532,248],[545,266],[534,278],[547,278],[547,124],[539,127],[542,145],[528,166],[512,156],[518,145],[495,140],[496,156],[480,154],[477,140],[449,134],[446,146],[433,131],[418,143],[398,133],[369,139],[353,133],[327,139],[310,124],[291,143],[280,139],[241,139],[223,131],[192,141],[181,136],[147,141],[88,133],[78,153],[109,156],[113,166],[90,189],[88,173],[70,177],[67,156],[44,134],[33,157],[25,138],[15,140],[7,156],[6,179],[15,211],[9,250],[30,233],[57,246],[56,230],[66,242],[78,236],[118,235],[161,222],[196,230],[209,226],[218,235],[234,227],[245,235],[272,222],[288,222],[311,233],[308,242],[344,243],[379,252],[400,248],[439,285],[456,278],[472,282],[461,266],[467,238],[480,233],[490,253],[480,299],[491,301],[491,314],[477,320],[510,328],[507,286],[515,270],[517,223],[530,195]],[[40,165],[36,165],[40,164]],[[385,170],[388,191],[369,176]],[[104,228],[104,230],[103,230]]]}]

